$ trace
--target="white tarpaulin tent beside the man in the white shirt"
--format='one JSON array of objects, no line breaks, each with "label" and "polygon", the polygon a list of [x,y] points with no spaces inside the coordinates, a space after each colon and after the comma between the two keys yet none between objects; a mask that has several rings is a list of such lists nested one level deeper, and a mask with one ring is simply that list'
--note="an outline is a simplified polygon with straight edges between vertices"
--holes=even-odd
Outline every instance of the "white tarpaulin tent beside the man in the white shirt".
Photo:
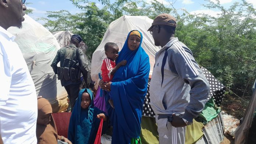
[{"label": "white tarpaulin tent beside the man in the white shirt", "polygon": [[67,92],[50,66],[60,46],[49,30],[28,15],[24,18],[22,29],[11,27],[8,32],[16,36],[38,96],[51,102],[53,112],[62,111],[67,108]]}]

